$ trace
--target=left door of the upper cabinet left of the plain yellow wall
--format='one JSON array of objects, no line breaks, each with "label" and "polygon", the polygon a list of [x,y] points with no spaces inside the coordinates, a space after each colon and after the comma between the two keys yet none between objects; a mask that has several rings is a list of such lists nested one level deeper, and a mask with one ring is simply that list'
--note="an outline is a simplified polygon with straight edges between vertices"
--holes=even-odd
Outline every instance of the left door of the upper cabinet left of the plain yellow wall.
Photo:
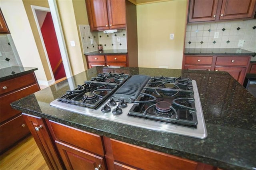
[{"label": "left door of the upper cabinet left of the plain yellow wall", "polygon": [[86,0],[85,2],[91,31],[108,30],[106,0]]}]

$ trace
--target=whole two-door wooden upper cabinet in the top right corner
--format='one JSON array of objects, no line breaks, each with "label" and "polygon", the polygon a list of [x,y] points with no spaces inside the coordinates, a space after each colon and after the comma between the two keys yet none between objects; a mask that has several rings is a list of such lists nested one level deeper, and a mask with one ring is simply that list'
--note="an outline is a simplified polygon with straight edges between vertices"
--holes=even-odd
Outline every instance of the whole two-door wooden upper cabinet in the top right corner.
[{"label": "whole two-door wooden upper cabinet in the top right corner", "polygon": [[188,23],[252,19],[256,0],[190,0]]}]

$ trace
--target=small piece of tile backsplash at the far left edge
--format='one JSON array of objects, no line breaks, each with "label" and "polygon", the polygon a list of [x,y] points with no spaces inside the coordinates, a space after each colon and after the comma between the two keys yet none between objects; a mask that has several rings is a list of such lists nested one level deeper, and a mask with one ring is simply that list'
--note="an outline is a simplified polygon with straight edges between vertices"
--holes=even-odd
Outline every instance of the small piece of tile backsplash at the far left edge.
[{"label": "small piece of tile backsplash at the far left edge", "polygon": [[10,34],[0,35],[0,68],[22,66]]}]

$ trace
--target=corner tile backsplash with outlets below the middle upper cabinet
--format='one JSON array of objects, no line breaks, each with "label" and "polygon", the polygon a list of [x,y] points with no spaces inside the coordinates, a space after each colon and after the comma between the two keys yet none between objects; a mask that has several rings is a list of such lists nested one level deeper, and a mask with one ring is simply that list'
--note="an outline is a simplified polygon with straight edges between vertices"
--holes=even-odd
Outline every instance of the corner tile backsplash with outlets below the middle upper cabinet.
[{"label": "corner tile backsplash with outlets below the middle upper cabinet", "polygon": [[[89,25],[79,25],[84,53],[98,50],[98,44],[104,49],[127,49],[126,30],[118,30],[113,34],[90,32]],[[117,41],[118,37],[120,42]],[[91,44],[91,40],[93,44]]]}]

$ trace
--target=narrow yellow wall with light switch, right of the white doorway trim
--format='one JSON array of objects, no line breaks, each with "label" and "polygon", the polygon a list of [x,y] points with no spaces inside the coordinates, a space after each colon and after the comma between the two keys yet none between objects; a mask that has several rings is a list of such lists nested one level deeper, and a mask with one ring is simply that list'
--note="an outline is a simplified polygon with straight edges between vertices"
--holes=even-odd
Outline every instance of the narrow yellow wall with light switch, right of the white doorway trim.
[{"label": "narrow yellow wall with light switch, right of the white doorway trim", "polygon": [[[82,2],[81,0],[75,0],[76,3]],[[64,33],[65,43],[67,47],[68,57],[73,75],[81,73],[85,70],[83,61],[83,52],[80,45],[78,26],[76,25],[76,16],[72,0],[57,0],[57,6],[60,15],[60,21],[62,24],[62,30]],[[84,3],[84,10],[85,10]],[[80,8],[81,9],[81,8]],[[86,10],[85,10],[86,11]],[[81,12],[82,15],[83,12]],[[81,19],[82,20],[82,19]],[[76,46],[71,47],[70,41],[75,41]]]}]

